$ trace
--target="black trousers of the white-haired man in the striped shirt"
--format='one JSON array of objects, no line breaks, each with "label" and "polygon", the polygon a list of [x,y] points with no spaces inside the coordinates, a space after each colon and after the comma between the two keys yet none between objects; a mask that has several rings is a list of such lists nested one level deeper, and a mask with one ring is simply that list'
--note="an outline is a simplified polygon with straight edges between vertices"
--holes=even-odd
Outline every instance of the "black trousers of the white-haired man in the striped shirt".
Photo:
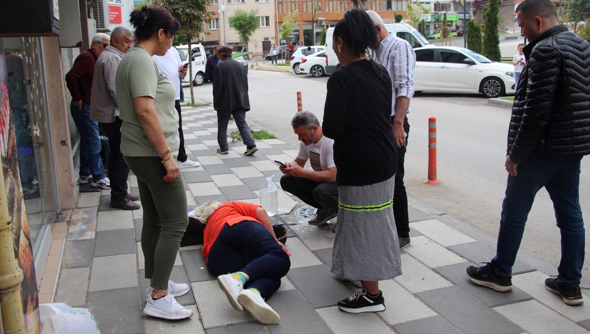
[{"label": "black trousers of the white-haired man in the striped shirt", "polygon": [[[406,135],[406,145],[409,137],[408,117],[404,119],[404,131]],[[406,147],[398,147],[398,171],[395,173],[394,187],[394,218],[395,227],[398,229],[398,236],[401,238],[409,237],[409,219],[408,219],[408,194],[404,186],[404,159]]]}]

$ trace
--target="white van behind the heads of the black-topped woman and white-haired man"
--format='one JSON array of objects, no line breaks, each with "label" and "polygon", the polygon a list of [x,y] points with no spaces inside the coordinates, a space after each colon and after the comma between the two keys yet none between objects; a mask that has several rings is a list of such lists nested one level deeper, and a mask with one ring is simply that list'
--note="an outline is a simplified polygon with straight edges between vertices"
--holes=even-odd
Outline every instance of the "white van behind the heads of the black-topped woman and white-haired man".
[{"label": "white van behind the heads of the black-topped woman and white-haired man", "polygon": [[[405,39],[408,41],[409,45],[412,45],[412,48],[420,48],[424,47],[425,45],[430,45],[428,40],[420,34],[418,30],[412,27],[409,24],[405,23],[388,23],[385,24],[385,29],[389,31],[391,34],[395,34],[397,37]],[[334,53],[334,49],[332,48],[332,35],[334,34],[334,28],[328,28],[326,31],[326,58],[327,58],[327,65],[326,65],[326,74],[330,74],[336,71],[337,68],[340,67],[340,63],[338,62],[338,58]]]}]

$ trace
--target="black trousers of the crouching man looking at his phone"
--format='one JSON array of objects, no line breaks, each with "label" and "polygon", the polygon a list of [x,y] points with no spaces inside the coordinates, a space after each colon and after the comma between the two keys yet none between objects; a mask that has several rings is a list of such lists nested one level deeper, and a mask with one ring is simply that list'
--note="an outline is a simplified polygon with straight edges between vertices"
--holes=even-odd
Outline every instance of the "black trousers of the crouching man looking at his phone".
[{"label": "black trousers of the crouching man looking at his phone", "polygon": [[338,186],[336,183],[316,182],[304,177],[283,175],[281,189],[294,194],[317,209],[327,208],[338,212]]}]

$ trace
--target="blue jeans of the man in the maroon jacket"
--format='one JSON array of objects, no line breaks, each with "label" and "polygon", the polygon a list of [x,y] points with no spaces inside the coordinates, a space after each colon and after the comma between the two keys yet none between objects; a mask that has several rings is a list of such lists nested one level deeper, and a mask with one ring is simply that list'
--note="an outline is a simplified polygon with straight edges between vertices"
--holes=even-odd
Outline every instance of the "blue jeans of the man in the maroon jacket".
[{"label": "blue jeans of the man in the maroon jacket", "polygon": [[90,104],[82,109],[70,104],[70,113],[80,134],[80,176],[92,176],[93,181],[107,177],[100,159],[99,123],[90,120]]}]

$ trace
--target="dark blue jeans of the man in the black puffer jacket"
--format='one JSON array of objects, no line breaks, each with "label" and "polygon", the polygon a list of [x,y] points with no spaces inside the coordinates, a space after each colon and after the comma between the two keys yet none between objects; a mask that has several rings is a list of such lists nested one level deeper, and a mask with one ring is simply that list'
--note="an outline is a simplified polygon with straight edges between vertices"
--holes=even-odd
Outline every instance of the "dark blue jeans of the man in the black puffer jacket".
[{"label": "dark blue jeans of the man in the black puffer jacket", "polygon": [[558,283],[579,285],[585,242],[578,189],[581,160],[582,157],[531,155],[518,165],[516,177],[508,176],[496,257],[491,260],[497,275],[512,274],[530,208],[537,191],[545,187],[561,233]]}]

